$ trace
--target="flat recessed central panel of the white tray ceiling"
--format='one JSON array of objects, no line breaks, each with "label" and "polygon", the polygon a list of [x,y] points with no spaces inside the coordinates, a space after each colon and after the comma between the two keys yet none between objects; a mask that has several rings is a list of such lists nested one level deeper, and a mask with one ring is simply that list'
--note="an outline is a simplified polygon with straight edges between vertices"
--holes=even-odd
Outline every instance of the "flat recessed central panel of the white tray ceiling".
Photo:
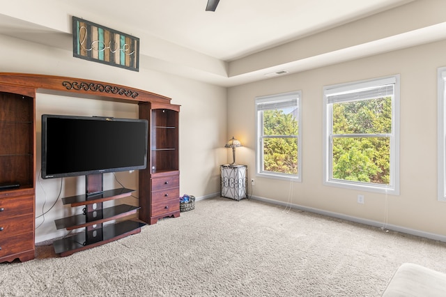
[{"label": "flat recessed central panel of the white tray ceiling", "polygon": [[[73,7],[100,12],[148,35],[232,61],[242,56],[339,26],[407,0],[75,0]],[[135,9],[136,8],[136,9]],[[127,32],[126,32],[127,33]]]}]

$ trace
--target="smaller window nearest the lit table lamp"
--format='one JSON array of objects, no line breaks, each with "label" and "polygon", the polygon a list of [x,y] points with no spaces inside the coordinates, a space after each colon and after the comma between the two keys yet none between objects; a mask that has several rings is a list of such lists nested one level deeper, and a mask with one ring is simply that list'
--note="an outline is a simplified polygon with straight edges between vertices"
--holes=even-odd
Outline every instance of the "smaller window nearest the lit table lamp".
[{"label": "smaller window nearest the lit table lamp", "polygon": [[256,174],[301,181],[300,91],[256,98]]}]

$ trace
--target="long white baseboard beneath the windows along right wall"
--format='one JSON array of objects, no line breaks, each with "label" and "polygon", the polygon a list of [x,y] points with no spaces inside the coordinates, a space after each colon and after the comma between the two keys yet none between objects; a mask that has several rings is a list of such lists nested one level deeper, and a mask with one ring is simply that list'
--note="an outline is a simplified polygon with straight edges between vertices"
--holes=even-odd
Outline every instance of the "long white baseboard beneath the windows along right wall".
[{"label": "long white baseboard beneath the windows along right wall", "polygon": [[259,201],[263,201],[266,203],[270,203],[270,204],[276,204],[276,205],[280,205],[280,206],[288,206],[291,208],[300,209],[301,211],[308,211],[309,213],[317,213],[319,215],[327,215],[328,217],[332,217],[332,218],[339,218],[341,220],[348,220],[348,221],[357,222],[360,224],[367,224],[369,226],[374,226],[374,227],[378,227],[378,228],[382,228],[382,229],[388,229],[388,230],[398,231],[398,232],[405,233],[405,234],[410,234],[410,235],[433,239],[434,241],[446,242],[446,236],[440,235],[440,234],[429,233],[429,232],[420,231],[417,229],[410,229],[410,228],[406,228],[406,227],[397,226],[394,224],[384,224],[383,222],[367,220],[367,219],[363,219],[363,218],[357,218],[357,217],[353,217],[351,215],[344,215],[342,213],[333,213],[331,211],[323,211],[322,209],[312,208],[312,207],[308,207],[308,206],[301,206],[298,204],[289,204],[289,203],[286,203],[283,201],[277,201],[274,199],[268,199],[268,198],[259,197],[259,196],[252,196],[250,198],[254,199],[254,200],[259,200]]}]

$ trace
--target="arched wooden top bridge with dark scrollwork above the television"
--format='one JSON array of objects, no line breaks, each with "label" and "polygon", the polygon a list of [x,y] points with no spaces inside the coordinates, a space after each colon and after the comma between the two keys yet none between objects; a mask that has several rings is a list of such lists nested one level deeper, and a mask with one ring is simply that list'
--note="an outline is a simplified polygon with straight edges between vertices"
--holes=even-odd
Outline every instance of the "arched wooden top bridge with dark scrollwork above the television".
[{"label": "arched wooden top bridge with dark scrollwork above the television", "polygon": [[89,79],[61,77],[55,75],[38,75],[29,73],[0,73],[0,84],[33,89],[46,89],[69,93],[89,94],[110,98],[111,100],[125,100],[139,102],[169,103],[171,98],[148,91],[133,89],[119,84],[109,84]]}]

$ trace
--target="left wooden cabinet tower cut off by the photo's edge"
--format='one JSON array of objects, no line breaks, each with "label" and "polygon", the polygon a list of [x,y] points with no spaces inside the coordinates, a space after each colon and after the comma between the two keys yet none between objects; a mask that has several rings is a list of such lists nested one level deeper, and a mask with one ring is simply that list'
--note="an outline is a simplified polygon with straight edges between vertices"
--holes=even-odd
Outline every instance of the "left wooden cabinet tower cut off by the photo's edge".
[{"label": "left wooden cabinet tower cut off by the photo's edge", "polygon": [[35,92],[0,86],[0,262],[34,258]]}]

